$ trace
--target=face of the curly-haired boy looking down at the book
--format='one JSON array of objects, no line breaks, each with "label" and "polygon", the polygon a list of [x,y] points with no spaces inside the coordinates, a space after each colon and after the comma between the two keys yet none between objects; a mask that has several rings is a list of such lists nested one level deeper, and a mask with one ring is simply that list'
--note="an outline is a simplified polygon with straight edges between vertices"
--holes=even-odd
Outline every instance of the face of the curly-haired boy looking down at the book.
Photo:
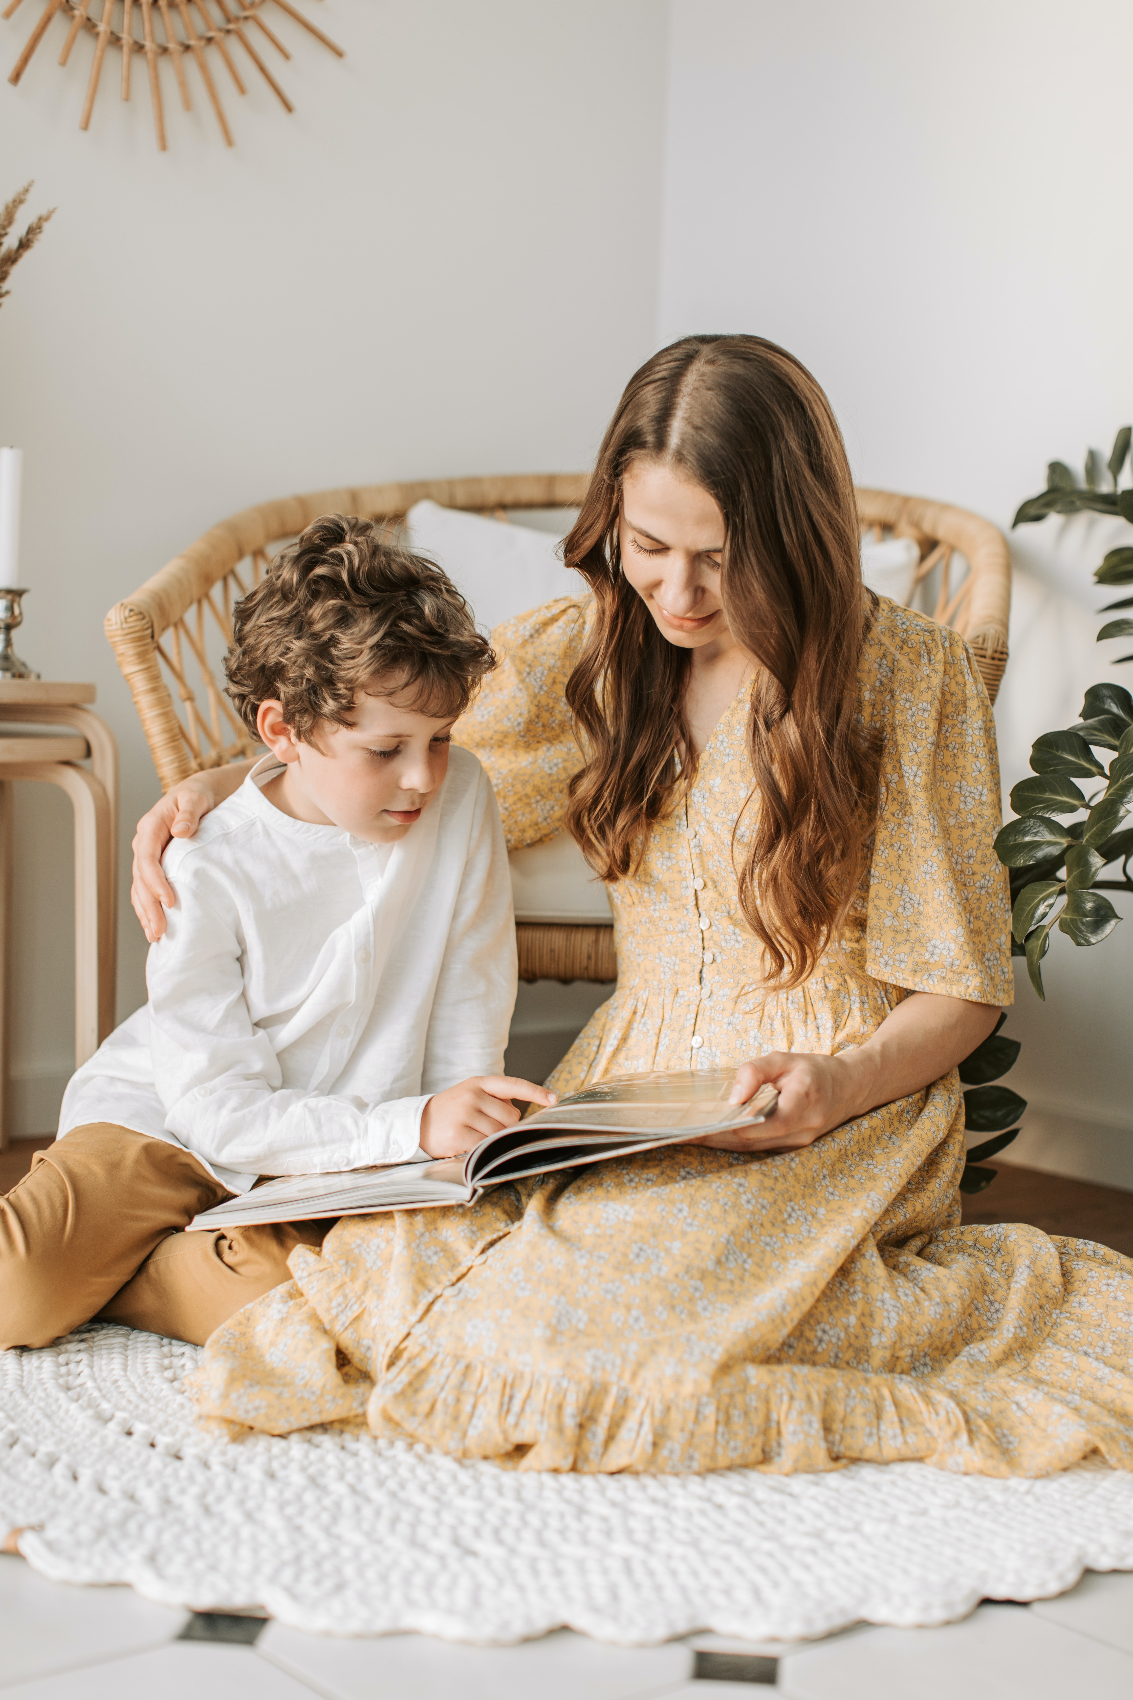
[{"label": "face of the curly-haired boy looking down at the book", "polygon": [[[408,700],[406,700],[408,699]],[[285,763],[263,787],[284,814],[316,826],[341,826],[370,843],[396,843],[420,819],[448,772],[455,716],[437,719],[408,706],[413,692],[358,692],[353,726],[321,721],[318,743],[302,743],[279,702],[262,702],[260,738]]]}]

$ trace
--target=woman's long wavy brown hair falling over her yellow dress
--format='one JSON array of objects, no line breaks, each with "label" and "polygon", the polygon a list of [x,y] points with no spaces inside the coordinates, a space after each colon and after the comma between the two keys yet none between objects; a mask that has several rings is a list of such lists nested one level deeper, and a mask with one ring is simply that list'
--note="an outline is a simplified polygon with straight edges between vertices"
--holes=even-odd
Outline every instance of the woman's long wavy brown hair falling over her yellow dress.
[{"label": "woman's long wavy brown hair falling over her yellow dress", "polygon": [[725,520],[720,597],[756,660],[747,717],[754,787],[734,857],[739,903],[780,989],[837,942],[877,811],[878,753],[858,716],[870,614],[858,512],[822,389],[761,337],[686,337],[630,379],[610,423],[566,563],[598,617],[567,683],[586,765],[567,828],[606,881],[639,865],[654,821],[693,780],[688,649],[668,643],[622,573],[622,479],[635,461],[702,484]]}]

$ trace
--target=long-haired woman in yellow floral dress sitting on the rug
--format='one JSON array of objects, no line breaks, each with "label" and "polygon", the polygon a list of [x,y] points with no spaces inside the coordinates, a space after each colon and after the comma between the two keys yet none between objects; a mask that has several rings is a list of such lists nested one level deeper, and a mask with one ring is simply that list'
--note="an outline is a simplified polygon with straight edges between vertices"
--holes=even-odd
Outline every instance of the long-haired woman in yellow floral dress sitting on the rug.
[{"label": "long-haired woman in yellow floral dress sitting on the rug", "polygon": [[[737,1066],[778,1112],[345,1219],[212,1336],[202,1409],[528,1469],[1133,1467],[1128,1260],[958,1227],[955,1071],[1011,1001],[990,711],[955,632],[861,588],[810,374],[753,337],[649,360],[566,561],[593,600],[501,627],[460,728],[511,843],[566,821],[608,882],[618,989],[550,1085]],[[166,823],[226,782],[143,823],[151,937]]]}]

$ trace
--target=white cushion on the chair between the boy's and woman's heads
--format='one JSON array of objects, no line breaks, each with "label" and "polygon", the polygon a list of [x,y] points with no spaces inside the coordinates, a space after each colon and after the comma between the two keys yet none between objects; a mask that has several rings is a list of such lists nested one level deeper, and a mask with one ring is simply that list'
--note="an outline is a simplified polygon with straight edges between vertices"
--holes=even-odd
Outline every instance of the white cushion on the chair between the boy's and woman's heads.
[{"label": "white cushion on the chair between the boy's and woman's heads", "polygon": [[555,556],[554,532],[504,525],[435,502],[418,502],[406,522],[411,546],[448,573],[486,632],[555,597],[586,595],[581,573],[567,571]]}]

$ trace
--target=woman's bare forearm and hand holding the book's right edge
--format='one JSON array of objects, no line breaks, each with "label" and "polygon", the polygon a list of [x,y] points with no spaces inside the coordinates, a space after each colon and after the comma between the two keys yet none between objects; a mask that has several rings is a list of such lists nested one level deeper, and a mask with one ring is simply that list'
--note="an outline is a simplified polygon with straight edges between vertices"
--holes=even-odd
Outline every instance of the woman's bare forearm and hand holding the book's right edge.
[{"label": "woman's bare forearm and hand holding the book's right edge", "polygon": [[747,1130],[712,1134],[696,1144],[717,1151],[795,1151],[858,1115],[924,1091],[972,1056],[994,1030],[999,1008],[914,991],[885,1017],[856,1051],[836,1057],[805,1051],[769,1051],[736,1071],[730,1103],[747,1103],[768,1081],[780,1102],[766,1122]]}]

